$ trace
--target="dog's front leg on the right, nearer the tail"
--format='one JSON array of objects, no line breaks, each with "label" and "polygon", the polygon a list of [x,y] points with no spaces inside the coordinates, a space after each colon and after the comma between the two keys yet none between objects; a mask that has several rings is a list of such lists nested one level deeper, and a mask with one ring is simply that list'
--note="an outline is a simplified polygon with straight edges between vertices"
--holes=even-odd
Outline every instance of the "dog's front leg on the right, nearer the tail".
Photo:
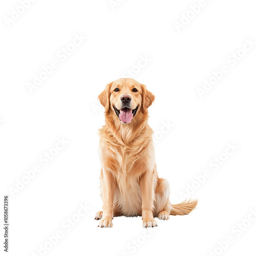
[{"label": "dog's front leg on the right, nearer the tail", "polygon": [[145,172],[140,178],[140,190],[142,197],[142,221],[143,227],[155,227],[157,222],[153,217],[154,174]]}]

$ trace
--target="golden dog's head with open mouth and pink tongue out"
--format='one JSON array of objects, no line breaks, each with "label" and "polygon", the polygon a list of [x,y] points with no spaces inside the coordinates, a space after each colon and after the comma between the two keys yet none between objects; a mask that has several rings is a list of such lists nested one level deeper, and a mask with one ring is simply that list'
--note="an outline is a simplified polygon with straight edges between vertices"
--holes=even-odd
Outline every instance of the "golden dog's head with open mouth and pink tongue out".
[{"label": "golden dog's head with open mouth and pink tongue out", "polygon": [[154,99],[144,84],[132,78],[120,78],[107,84],[99,95],[105,113],[112,111],[123,124],[132,122],[138,112],[146,114]]}]

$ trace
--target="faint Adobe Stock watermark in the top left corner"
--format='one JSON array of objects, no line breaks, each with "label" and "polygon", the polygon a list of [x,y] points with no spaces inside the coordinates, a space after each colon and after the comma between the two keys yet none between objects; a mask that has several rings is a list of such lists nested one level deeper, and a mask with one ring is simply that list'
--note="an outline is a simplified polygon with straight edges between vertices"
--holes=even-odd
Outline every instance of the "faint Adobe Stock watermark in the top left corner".
[{"label": "faint Adobe Stock watermark in the top left corner", "polygon": [[34,3],[36,0],[20,0],[19,6],[17,6],[15,9],[11,9],[11,13],[8,16],[4,17],[5,24],[9,28],[11,24],[13,24],[19,17],[26,12],[31,6],[32,3]]}]

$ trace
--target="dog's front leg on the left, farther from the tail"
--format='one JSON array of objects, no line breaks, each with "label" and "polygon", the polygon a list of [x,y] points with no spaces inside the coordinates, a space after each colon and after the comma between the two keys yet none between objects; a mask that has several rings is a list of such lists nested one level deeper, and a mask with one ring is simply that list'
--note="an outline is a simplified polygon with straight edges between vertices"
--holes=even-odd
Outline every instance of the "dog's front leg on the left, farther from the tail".
[{"label": "dog's front leg on the left, farther from the tail", "polygon": [[99,227],[113,227],[113,201],[116,191],[116,181],[113,175],[105,170],[101,172],[101,191],[103,197],[103,213]]}]

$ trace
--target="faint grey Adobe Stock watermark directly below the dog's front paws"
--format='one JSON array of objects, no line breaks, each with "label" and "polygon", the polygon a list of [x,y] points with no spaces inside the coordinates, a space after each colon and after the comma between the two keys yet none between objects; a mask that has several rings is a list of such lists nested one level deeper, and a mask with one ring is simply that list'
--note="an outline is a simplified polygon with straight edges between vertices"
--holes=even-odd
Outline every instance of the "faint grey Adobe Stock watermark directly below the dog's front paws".
[{"label": "faint grey Adobe Stock watermark directly below the dog's front paws", "polygon": [[148,238],[150,238],[155,232],[157,228],[147,228],[143,231],[143,233],[138,236],[136,239],[133,239],[126,246],[126,251],[123,251],[120,256],[129,256],[132,253],[136,252]]}]

